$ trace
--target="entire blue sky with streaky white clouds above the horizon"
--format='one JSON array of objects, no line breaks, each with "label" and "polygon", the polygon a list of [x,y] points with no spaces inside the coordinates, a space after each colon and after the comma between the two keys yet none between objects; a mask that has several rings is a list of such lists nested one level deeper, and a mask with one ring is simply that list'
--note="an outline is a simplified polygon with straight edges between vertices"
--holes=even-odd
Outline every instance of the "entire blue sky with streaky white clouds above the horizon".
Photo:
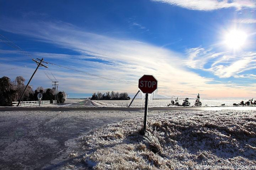
[{"label": "entire blue sky with streaky white clouds above the horizon", "polygon": [[69,98],[133,96],[144,74],[159,97],[255,97],[255,28],[256,0],[0,0],[0,77],[29,80],[43,57],[31,85]]}]

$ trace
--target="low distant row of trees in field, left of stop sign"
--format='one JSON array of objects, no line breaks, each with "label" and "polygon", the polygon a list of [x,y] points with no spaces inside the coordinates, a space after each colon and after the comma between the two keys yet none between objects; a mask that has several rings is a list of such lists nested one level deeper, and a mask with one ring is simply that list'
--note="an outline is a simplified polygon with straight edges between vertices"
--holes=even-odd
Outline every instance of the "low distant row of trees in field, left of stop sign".
[{"label": "low distant row of trees in field, left of stop sign", "polygon": [[119,93],[119,92],[106,92],[102,94],[101,92],[94,92],[92,94],[91,100],[130,100],[127,92]]}]

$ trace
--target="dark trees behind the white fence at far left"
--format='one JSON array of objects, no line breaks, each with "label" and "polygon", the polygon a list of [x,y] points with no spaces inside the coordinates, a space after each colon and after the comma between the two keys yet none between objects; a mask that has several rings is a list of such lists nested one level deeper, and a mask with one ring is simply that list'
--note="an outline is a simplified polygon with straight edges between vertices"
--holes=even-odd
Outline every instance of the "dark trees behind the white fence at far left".
[{"label": "dark trees behind the white fence at far left", "polygon": [[[0,78],[0,106],[12,106],[12,102],[18,102],[22,92],[24,91],[26,85],[25,79],[22,76],[18,76],[12,82],[8,77]],[[38,93],[42,93],[42,100],[50,100],[52,103],[55,99],[55,88],[47,88],[37,87],[35,91],[33,91],[32,86],[28,86],[23,99],[21,101],[37,101]],[[64,103],[66,100],[66,93],[58,92],[58,103]]]}]

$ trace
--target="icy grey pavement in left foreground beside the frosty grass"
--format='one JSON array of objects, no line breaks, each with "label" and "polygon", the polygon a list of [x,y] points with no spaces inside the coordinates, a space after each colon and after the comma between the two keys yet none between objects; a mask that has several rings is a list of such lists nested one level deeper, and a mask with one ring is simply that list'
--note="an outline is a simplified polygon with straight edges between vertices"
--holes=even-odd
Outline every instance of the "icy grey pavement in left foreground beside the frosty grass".
[{"label": "icy grey pavement in left foreground beside the frosty grass", "polygon": [[0,112],[0,170],[55,170],[66,165],[72,143],[108,123],[140,116],[125,111]]}]

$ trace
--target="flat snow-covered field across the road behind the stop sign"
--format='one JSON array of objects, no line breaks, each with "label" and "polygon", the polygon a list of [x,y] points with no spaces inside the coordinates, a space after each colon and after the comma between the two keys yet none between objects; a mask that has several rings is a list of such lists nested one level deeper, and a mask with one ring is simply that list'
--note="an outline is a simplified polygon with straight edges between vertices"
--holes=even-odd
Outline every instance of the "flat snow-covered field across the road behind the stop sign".
[{"label": "flat snow-covered field across the road behind the stop sign", "polygon": [[[182,104],[184,99],[179,99],[179,103]],[[234,103],[239,104],[241,101],[247,102],[249,99],[200,99],[202,106],[233,106]],[[194,106],[195,99],[189,99],[191,106]],[[131,100],[95,100],[99,106],[108,107],[127,107]],[[153,99],[149,102],[149,107],[166,107],[171,103],[171,99]],[[135,99],[131,107],[144,107],[145,100]]]}]

